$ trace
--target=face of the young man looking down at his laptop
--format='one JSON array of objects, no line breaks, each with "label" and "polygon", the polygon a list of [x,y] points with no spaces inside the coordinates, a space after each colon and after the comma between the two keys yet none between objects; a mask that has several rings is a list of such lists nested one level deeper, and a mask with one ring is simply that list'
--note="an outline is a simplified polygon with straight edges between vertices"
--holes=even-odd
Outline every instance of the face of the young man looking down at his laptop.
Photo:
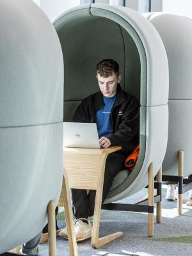
[{"label": "face of the young man looking down at his laptop", "polygon": [[112,76],[103,77],[97,73],[97,80],[99,83],[100,92],[102,92],[105,97],[111,98],[116,94],[116,87],[121,81],[121,76],[117,77],[113,72]]}]

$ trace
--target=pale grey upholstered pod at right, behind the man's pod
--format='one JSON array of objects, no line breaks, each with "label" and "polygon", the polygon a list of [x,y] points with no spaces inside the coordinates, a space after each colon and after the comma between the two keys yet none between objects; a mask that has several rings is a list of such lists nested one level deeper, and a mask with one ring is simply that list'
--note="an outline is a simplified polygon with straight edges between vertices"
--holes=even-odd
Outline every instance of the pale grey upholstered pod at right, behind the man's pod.
[{"label": "pale grey upholstered pod at right, behind the man's pod", "polygon": [[148,13],[146,17],[163,40],[170,70],[168,146],[163,174],[177,175],[178,151],[184,150],[187,176],[192,173],[192,20],[169,13]]}]

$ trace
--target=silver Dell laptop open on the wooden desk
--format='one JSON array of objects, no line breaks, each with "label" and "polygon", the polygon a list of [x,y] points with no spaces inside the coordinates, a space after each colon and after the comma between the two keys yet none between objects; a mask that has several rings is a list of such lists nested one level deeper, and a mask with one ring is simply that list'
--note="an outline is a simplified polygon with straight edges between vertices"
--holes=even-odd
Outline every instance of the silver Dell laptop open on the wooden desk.
[{"label": "silver Dell laptop open on the wooden desk", "polygon": [[97,124],[64,122],[63,146],[70,148],[100,148]]}]

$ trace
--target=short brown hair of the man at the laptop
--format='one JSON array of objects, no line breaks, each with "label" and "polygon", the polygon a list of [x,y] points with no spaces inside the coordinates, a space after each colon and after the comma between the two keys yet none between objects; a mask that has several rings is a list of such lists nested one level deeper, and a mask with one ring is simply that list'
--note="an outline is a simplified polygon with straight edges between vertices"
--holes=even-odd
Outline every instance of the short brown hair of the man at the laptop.
[{"label": "short brown hair of the man at the laptop", "polygon": [[109,77],[113,75],[113,72],[117,77],[119,76],[119,66],[115,60],[106,59],[97,64],[97,74],[100,76]]}]

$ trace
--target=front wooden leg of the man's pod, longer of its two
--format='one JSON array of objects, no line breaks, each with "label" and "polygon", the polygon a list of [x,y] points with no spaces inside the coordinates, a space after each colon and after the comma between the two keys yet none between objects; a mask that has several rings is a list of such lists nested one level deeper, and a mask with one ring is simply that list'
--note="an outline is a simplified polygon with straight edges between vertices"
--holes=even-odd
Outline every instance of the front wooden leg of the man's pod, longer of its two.
[{"label": "front wooden leg of the man's pod, longer of its two", "polygon": [[148,168],[148,236],[154,236],[154,164]]}]

